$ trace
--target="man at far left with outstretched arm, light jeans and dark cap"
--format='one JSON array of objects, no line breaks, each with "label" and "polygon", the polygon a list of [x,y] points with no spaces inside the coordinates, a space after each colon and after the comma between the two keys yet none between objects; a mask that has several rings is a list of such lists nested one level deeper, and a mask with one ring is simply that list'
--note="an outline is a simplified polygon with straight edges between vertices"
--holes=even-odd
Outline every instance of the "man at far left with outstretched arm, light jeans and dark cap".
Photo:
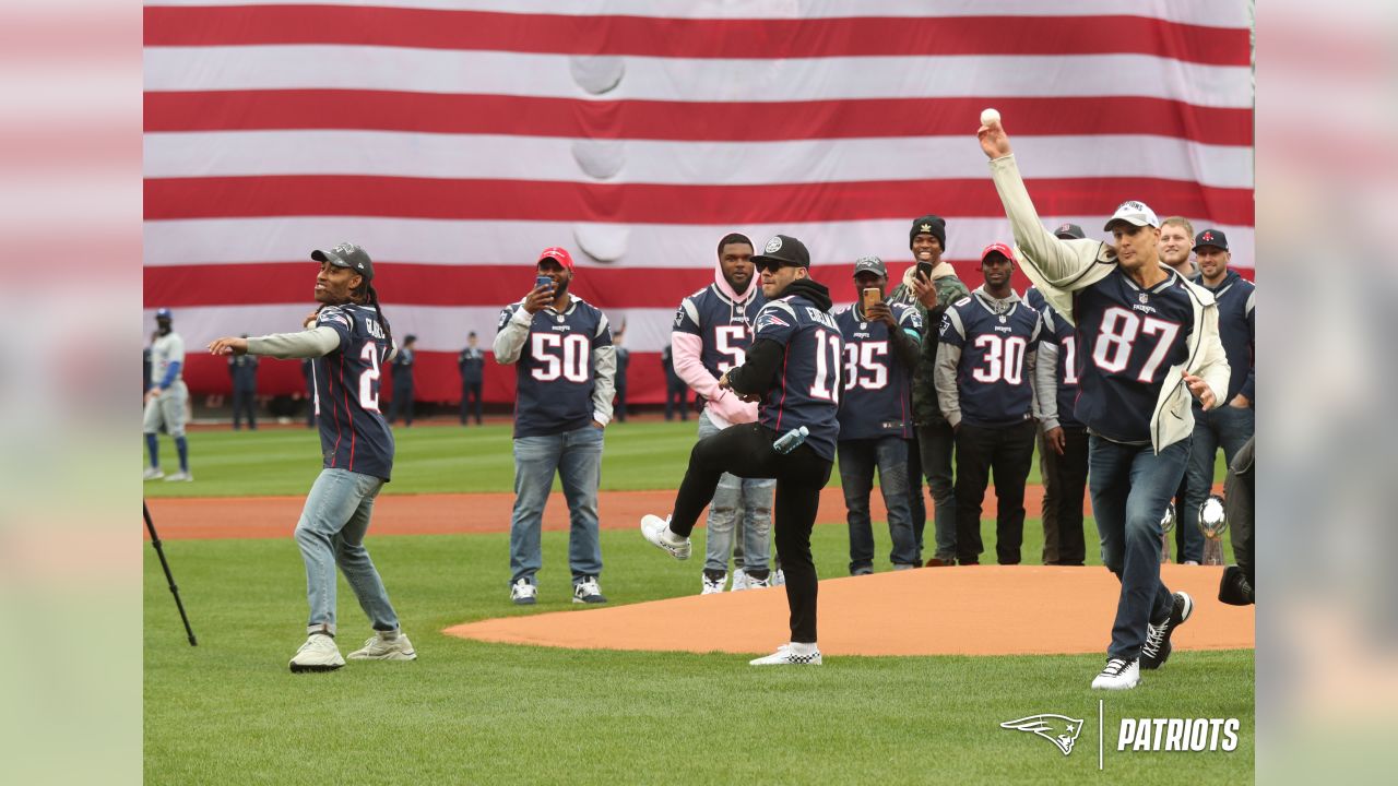
[{"label": "man at far left with outstretched arm, light jeans and dark cap", "polygon": [[363,249],[340,243],[310,252],[320,263],[320,308],[301,333],[259,338],[218,338],[215,355],[312,358],[315,407],[324,469],[310,487],[296,523],[306,562],[310,622],[306,643],[291,659],[292,671],[331,671],[344,666],[336,646],[336,565],[350,582],[375,635],[350,653],[354,660],[414,660],[412,643],[398,629],[379,571],[363,547],[373,501],[393,473],[393,432],[379,414],[379,375],[393,357],[393,331],[379,309],[373,263]]}]

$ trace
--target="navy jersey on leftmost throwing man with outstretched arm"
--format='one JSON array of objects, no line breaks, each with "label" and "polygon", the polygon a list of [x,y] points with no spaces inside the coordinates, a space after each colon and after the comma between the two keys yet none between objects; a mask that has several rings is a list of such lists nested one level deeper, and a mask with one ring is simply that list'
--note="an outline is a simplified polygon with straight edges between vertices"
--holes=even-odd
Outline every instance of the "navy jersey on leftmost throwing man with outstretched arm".
[{"label": "navy jersey on leftmost throwing man with outstretched arm", "polygon": [[393,432],[379,414],[379,378],[389,341],[373,308],[355,303],[326,306],[316,327],[340,334],[340,348],[312,358],[316,421],[324,467],[390,480]]}]

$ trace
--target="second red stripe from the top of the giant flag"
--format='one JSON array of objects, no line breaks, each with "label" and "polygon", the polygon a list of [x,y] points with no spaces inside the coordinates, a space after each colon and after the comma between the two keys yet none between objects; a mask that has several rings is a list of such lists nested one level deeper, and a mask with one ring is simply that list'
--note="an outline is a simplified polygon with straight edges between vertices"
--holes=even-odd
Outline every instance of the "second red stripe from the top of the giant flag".
[{"label": "second red stripe from the top of the giant flag", "polygon": [[[1023,136],[1155,134],[1253,144],[1253,112],[1145,97],[582,101],[375,90],[147,92],[147,131],[351,129],[440,134],[773,141],[974,134],[995,106]],[[741,117],[735,123],[734,117]]]}]

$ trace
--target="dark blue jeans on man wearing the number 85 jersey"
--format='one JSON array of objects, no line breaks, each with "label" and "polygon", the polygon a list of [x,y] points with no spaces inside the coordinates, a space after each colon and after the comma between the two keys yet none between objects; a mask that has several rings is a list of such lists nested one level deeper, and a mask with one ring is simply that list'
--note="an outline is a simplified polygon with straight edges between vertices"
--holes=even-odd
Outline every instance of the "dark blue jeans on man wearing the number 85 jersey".
[{"label": "dark blue jeans on man wearing the number 85 jersey", "polygon": [[889,561],[917,566],[917,540],[909,498],[907,439],[882,436],[840,441],[840,485],[844,490],[846,522],[850,527],[850,573],[874,568],[874,527],[870,523],[870,492],[874,467],[878,488],[888,508],[888,533],[893,540]]}]

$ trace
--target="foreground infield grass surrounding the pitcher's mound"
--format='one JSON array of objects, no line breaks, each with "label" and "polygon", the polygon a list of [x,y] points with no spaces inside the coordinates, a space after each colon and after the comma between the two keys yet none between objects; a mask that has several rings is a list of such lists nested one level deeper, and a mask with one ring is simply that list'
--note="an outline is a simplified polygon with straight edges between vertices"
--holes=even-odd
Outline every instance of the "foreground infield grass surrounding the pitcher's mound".
[{"label": "foreground infield grass surrounding the pitcher's mound", "polygon": [[[603,589],[612,603],[695,592],[696,569],[658,558],[633,533],[605,531],[603,540]],[[292,543],[165,544],[199,648],[185,642],[159,562],[147,550],[145,782],[1253,778],[1250,650],[1180,653],[1139,689],[1103,696],[1086,687],[1099,655],[835,657],[821,669],[758,670],[747,656],[523,648],[442,635],[487,617],[589,613],[568,603],[563,533],[544,534],[541,604],[533,610],[507,600],[506,543],[503,534],[370,538],[419,660],[351,662],[333,674],[287,670],[305,620],[305,578]],[[843,575],[843,527],[816,527],[814,548],[822,575]],[[368,625],[343,582],[340,621],[347,652]],[[780,625],[773,620],[774,642]],[[1104,773],[1095,772],[1099,698],[1106,699]],[[1071,757],[998,727],[1042,712],[1088,720]],[[1239,717],[1241,744],[1227,754],[1114,751],[1120,717],[1156,716]]]}]

